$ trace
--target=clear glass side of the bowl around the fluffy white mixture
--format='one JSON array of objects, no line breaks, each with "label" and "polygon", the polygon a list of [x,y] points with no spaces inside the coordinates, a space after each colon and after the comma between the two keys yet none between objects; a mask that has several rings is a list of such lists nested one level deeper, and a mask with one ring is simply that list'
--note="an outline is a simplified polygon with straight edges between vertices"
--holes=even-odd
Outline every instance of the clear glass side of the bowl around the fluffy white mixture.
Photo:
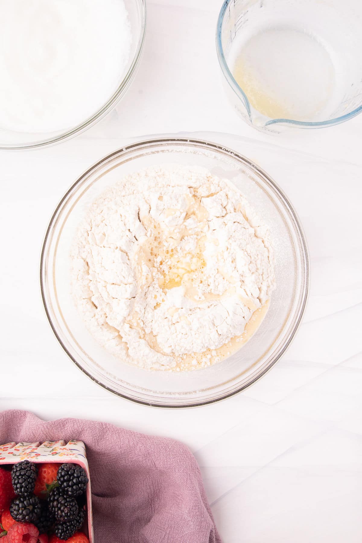
[{"label": "clear glass side of the bowl around the fluffy white mixture", "polygon": [[123,0],[128,11],[132,32],[130,58],[125,70],[118,74],[118,86],[107,102],[98,111],[81,124],[67,130],[46,133],[27,133],[4,130],[0,127],[0,149],[27,149],[42,147],[67,140],[80,132],[90,128],[115,107],[120,98],[134,79],[142,58],[142,49],[146,31],[146,4],[145,0]]}]

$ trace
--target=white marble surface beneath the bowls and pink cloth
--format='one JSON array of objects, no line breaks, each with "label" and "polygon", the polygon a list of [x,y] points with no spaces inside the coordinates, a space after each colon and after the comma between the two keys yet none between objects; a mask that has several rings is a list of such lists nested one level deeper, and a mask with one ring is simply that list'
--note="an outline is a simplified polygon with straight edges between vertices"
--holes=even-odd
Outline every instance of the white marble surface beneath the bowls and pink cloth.
[{"label": "white marble surface beneath the bowls and pink cloth", "polygon": [[[362,116],[284,136],[247,127],[221,87],[221,0],[196,4],[149,0],[142,65],[117,111],[59,146],[0,154],[0,409],[182,440],[200,463],[224,543],[358,543]],[[257,161],[295,205],[312,262],[307,312],[282,361],[243,394],[177,411],[134,405],[87,380],[53,337],[38,283],[42,237],[68,186],[109,151],[166,132],[225,143]]]}]

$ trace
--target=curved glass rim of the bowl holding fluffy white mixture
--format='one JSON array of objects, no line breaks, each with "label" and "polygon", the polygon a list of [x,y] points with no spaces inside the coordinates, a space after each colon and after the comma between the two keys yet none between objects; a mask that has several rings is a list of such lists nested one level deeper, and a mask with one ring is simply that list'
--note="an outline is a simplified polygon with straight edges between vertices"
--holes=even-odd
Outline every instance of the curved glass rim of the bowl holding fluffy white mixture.
[{"label": "curved glass rim of the bowl holding fluffy white mixture", "polygon": [[46,138],[44,140],[37,140],[33,142],[27,142],[27,143],[19,143],[19,144],[13,144],[13,143],[2,143],[0,141],[0,149],[1,150],[23,150],[23,149],[37,149],[41,147],[47,147],[55,145],[56,143],[61,143],[65,140],[69,140],[70,138],[77,136],[78,134],[81,134],[81,132],[84,132],[88,128],[91,128],[94,124],[96,124],[98,121],[100,121],[101,118],[103,118],[107,113],[109,113],[112,108],[115,107],[115,105],[119,102],[120,98],[122,98],[125,91],[128,89],[132,79],[134,78],[137,68],[139,66],[139,62],[142,58],[143,53],[143,45],[144,45],[144,39],[146,34],[146,27],[147,27],[147,5],[146,0],[135,0],[135,2],[138,5],[138,9],[140,10],[141,20],[140,20],[140,33],[138,36],[138,42],[136,51],[134,54],[134,57],[132,59],[131,65],[128,69],[128,72],[125,74],[122,82],[118,85],[115,92],[113,92],[112,96],[107,100],[107,102],[101,106],[101,108],[96,111],[96,113],[93,113],[91,117],[88,117],[85,119],[85,121],[81,122],[80,124],[77,124],[75,127],[70,128],[66,130],[65,132],[61,132],[61,134],[58,134],[56,136],[52,136],[49,138]]}]

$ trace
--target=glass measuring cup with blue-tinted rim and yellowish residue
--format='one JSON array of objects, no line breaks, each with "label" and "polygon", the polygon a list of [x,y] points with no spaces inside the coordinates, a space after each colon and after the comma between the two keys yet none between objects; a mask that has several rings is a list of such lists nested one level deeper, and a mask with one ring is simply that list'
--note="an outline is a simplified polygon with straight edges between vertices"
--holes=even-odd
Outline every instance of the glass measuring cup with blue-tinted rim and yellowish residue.
[{"label": "glass measuring cup with blue-tinted rim and yellowish residue", "polygon": [[216,43],[234,109],[272,132],[358,115],[361,28],[359,0],[226,0]]}]

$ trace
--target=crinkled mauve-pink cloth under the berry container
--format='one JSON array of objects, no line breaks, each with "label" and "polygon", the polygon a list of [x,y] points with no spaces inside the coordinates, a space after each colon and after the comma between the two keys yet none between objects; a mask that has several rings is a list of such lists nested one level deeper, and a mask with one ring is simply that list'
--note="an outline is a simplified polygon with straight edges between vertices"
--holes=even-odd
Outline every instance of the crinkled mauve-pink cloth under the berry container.
[{"label": "crinkled mauve-pink cloth under the berry container", "polygon": [[199,466],[182,443],[103,422],[0,413],[0,444],[59,439],[86,445],[96,543],[221,542]]}]

